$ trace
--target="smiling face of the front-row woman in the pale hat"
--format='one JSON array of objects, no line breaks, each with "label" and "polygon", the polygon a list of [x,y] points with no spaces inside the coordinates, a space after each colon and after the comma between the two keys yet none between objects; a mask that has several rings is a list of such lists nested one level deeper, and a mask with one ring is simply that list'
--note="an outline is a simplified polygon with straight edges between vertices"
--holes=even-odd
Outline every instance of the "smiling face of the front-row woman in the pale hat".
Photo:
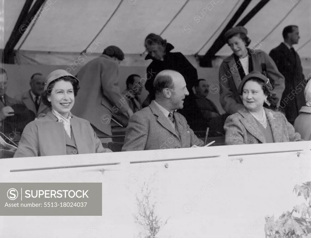
[{"label": "smiling face of the front-row woman in the pale hat", "polygon": [[52,109],[67,118],[75,103],[71,82],[64,80],[56,82],[52,93],[48,96],[48,100],[52,104]]}]

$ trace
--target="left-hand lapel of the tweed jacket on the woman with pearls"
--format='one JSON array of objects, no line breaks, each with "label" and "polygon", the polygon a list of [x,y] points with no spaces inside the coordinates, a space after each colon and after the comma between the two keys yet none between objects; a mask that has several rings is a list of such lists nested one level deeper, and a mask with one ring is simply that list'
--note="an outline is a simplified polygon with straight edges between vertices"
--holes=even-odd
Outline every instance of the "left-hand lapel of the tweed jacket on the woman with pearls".
[{"label": "left-hand lapel of the tweed jacket on the woman with pearls", "polygon": [[256,139],[262,143],[266,143],[266,138],[262,134],[259,126],[257,125],[256,119],[248,112],[248,110],[239,110],[239,113],[244,117],[241,119],[241,123],[244,125],[245,129],[252,134]]}]

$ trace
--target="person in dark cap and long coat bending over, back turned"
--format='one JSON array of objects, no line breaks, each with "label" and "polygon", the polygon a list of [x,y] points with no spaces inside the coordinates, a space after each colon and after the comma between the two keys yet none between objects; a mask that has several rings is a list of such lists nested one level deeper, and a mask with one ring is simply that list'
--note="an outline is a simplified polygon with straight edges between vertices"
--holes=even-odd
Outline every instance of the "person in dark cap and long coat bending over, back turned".
[{"label": "person in dark cap and long coat bending over, back turned", "polygon": [[[124,59],[120,48],[108,46],[103,54],[88,62],[77,74],[80,80],[79,94],[75,98],[72,113],[88,120],[97,136],[111,136],[112,111],[128,118],[133,115],[119,89],[118,67]],[[112,139],[100,138],[102,143]]]}]

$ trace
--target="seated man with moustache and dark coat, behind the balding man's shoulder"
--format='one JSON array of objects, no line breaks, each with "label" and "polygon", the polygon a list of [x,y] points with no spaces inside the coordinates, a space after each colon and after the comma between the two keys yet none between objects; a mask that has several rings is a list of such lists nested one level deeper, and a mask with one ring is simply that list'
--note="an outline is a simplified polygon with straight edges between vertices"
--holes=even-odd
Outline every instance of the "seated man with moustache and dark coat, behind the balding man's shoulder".
[{"label": "seated man with moustache and dark coat, behind the balding man's shoulder", "polygon": [[[207,98],[209,93],[209,85],[205,79],[198,79],[195,84],[196,102],[201,110],[203,120],[206,121],[210,131],[217,131],[225,134],[224,124],[228,114],[220,115],[215,104]],[[206,130],[206,128],[202,128]]]}]

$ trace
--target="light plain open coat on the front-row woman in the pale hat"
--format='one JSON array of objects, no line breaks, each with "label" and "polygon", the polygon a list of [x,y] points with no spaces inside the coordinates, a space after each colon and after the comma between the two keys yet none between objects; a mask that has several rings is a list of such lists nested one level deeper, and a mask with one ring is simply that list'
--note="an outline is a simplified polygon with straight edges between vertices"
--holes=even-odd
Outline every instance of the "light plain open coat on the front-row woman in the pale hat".
[{"label": "light plain open coat on the front-row woman in the pale hat", "polygon": [[[104,149],[90,122],[72,115],[72,133],[78,154],[112,152]],[[63,123],[52,112],[26,125],[14,157],[67,155]]]}]

